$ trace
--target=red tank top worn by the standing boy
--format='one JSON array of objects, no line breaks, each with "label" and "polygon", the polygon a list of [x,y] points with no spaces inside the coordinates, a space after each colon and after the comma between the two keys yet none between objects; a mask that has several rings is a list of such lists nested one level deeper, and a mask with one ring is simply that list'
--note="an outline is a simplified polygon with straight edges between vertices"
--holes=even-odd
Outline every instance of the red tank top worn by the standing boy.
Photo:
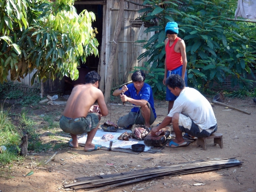
[{"label": "red tank top worn by the standing boy", "polygon": [[168,71],[174,70],[183,64],[181,53],[177,53],[174,51],[174,46],[176,45],[179,39],[181,38],[177,37],[174,43],[171,45],[171,47],[169,46],[170,40],[168,40],[168,43],[165,47],[166,68]]}]

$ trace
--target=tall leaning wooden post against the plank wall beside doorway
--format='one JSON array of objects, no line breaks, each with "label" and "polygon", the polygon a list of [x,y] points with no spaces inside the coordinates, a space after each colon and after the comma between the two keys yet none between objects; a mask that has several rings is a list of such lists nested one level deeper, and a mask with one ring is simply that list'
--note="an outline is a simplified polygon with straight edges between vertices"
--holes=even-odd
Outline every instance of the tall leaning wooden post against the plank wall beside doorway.
[{"label": "tall leaning wooden post against the plank wall beside doorway", "polygon": [[106,77],[106,84],[105,84],[105,102],[107,103],[110,100],[110,90],[111,90],[111,85],[113,81],[113,64],[114,64],[114,56],[116,54],[116,49],[117,49],[117,42],[119,38],[119,34],[121,31],[121,25],[123,22],[123,15],[124,15],[124,0],[120,0],[120,5],[119,5],[119,15],[117,16],[117,23],[116,23],[116,30],[114,33],[114,43],[112,45],[112,50],[110,53],[110,59],[108,62],[107,66],[107,77]]}]

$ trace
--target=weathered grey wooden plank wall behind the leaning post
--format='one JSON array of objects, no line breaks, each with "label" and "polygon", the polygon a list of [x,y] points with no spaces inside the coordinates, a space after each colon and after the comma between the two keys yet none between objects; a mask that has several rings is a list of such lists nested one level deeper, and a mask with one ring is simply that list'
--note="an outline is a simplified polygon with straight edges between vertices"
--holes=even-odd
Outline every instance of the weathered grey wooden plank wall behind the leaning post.
[{"label": "weathered grey wooden plank wall behind the leaning post", "polygon": [[[111,0],[108,1],[110,4],[110,20],[106,22],[106,25],[110,26],[110,38],[106,43],[110,43],[109,50],[107,50],[106,46],[106,57],[109,57],[109,53],[112,47],[114,31],[116,27],[117,14],[119,10],[119,0]],[[107,2],[107,3],[108,3]],[[143,0],[135,0],[140,4],[143,3]],[[138,62],[137,58],[140,54],[145,52],[144,49],[140,46],[139,43],[135,43],[137,40],[149,39],[154,32],[149,34],[143,33],[146,28],[142,25],[140,28],[135,28],[130,25],[130,20],[134,20],[140,13],[138,13],[139,9],[143,7],[131,4],[125,1],[125,10],[124,10],[124,22],[122,24],[121,32],[119,35],[119,42],[116,51],[116,56],[114,59],[114,67],[113,67],[113,83],[112,87],[116,87],[121,85],[127,81],[131,80],[130,71],[133,71],[134,66],[144,66],[144,62],[146,59]],[[108,9],[108,6],[107,6]],[[107,12],[107,11],[106,11]],[[107,31],[107,29],[106,29]],[[107,34],[107,32],[106,32]],[[106,59],[107,60],[107,59]],[[107,75],[105,73],[105,75]]]}]

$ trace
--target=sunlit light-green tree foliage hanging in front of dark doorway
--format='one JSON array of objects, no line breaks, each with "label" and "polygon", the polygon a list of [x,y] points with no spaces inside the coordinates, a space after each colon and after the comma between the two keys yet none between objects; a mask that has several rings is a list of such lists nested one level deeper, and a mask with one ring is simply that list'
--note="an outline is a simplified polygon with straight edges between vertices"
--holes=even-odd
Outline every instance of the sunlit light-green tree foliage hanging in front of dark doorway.
[{"label": "sunlit light-green tree foliage hanging in front of dark doorway", "polygon": [[0,82],[20,81],[34,69],[44,81],[78,78],[79,59],[98,55],[95,15],[77,14],[74,0],[0,0]]}]

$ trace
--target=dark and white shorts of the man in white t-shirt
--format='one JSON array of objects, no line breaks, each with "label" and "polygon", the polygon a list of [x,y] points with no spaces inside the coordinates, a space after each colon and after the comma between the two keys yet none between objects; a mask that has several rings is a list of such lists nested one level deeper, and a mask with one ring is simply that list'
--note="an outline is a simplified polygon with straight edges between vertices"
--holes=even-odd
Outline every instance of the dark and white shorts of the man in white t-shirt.
[{"label": "dark and white shorts of the man in white t-shirt", "polygon": [[[214,126],[210,127],[208,130],[200,130],[198,125],[194,123],[194,121],[183,114],[180,114],[179,117],[179,128],[182,132],[188,133],[194,137],[209,137],[211,134],[217,131],[218,125],[215,124]],[[201,132],[200,132],[201,131]]]}]

